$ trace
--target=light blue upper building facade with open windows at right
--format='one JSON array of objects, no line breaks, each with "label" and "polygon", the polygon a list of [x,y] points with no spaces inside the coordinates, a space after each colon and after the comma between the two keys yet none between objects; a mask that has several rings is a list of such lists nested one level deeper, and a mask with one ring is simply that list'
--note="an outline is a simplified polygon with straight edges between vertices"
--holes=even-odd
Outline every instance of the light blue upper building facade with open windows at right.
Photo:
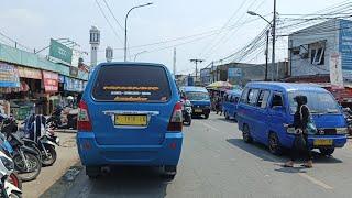
[{"label": "light blue upper building facade with open windows at right", "polygon": [[288,56],[292,78],[352,81],[352,21],[333,19],[292,33]]}]

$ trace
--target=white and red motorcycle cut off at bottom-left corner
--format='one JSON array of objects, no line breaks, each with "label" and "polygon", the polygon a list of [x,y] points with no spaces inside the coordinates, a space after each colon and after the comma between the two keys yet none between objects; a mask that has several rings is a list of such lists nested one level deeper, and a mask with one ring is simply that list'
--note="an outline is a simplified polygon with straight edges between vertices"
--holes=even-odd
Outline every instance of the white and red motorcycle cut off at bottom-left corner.
[{"label": "white and red motorcycle cut off at bottom-left corner", "polygon": [[0,151],[0,189],[3,198],[20,198],[22,191],[18,187],[21,183],[13,174],[14,164],[11,157]]}]

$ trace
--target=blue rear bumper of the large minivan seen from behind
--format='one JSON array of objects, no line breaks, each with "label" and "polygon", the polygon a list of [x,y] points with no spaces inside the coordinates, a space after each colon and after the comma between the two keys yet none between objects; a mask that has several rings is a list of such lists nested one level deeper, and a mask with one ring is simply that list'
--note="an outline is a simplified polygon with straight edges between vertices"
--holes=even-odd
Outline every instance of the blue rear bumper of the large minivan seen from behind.
[{"label": "blue rear bumper of the large minivan seen from behind", "polygon": [[82,165],[177,165],[183,133],[165,133],[161,145],[100,145],[94,132],[77,132],[77,147]]}]

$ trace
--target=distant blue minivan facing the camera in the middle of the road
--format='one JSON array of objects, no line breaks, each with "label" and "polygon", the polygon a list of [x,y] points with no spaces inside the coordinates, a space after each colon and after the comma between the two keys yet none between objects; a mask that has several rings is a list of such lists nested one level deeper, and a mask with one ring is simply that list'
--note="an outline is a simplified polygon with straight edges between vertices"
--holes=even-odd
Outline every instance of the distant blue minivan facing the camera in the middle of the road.
[{"label": "distant blue minivan facing the camera in the middle of the road", "polygon": [[205,87],[186,86],[180,87],[180,92],[193,106],[193,116],[205,116],[206,119],[210,114],[210,97]]}]

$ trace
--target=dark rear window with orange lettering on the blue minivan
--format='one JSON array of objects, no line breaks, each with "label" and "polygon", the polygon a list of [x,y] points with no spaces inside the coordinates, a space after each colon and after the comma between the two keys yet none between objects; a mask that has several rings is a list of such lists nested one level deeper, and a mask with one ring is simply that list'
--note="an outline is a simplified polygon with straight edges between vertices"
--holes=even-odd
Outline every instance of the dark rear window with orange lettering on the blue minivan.
[{"label": "dark rear window with orange lettering on the blue minivan", "polygon": [[170,88],[163,67],[102,66],[94,84],[95,100],[117,102],[165,102]]}]

